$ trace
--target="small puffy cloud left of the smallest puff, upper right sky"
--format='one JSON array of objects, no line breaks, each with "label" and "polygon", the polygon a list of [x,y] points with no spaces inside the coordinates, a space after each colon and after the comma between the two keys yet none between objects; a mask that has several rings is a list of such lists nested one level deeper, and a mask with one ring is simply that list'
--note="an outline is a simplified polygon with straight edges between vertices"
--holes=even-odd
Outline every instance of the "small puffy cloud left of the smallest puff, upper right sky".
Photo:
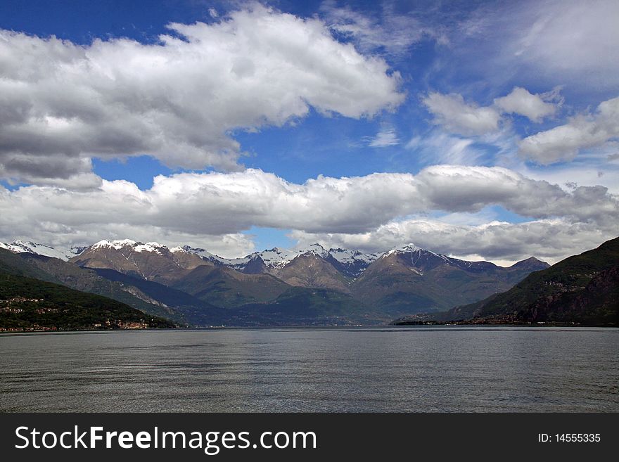
[{"label": "small puffy cloud left of the smallest puff, upper right sky", "polygon": [[482,135],[499,129],[501,115],[497,109],[466,103],[462,95],[433,92],[422,101],[434,115],[434,122],[454,133]]}]

